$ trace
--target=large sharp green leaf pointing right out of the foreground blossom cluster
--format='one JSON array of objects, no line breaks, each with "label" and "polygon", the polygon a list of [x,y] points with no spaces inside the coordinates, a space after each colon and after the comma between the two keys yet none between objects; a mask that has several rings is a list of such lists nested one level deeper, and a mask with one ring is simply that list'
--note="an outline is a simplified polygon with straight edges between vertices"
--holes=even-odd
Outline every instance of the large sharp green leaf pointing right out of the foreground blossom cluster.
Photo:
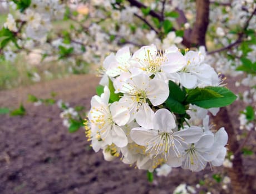
[{"label": "large sharp green leaf pointing right out of the foreground blossom cluster", "polygon": [[186,102],[195,104],[204,109],[228,106],[237,99],[237,96],[228,88],[208,86],[189,90]]}]

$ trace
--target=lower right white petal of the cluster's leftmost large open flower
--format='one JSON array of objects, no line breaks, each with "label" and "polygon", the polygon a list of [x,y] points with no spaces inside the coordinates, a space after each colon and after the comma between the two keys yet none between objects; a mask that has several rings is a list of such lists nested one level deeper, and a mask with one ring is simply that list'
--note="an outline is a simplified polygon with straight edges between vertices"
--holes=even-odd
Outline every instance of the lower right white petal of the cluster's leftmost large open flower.
[{"label": "lower right white petal of the cluster's leftmost large open flower", "polygon": [[128,139],[120,126],[112,125],[112,141],[117,147],[125,147]]}]

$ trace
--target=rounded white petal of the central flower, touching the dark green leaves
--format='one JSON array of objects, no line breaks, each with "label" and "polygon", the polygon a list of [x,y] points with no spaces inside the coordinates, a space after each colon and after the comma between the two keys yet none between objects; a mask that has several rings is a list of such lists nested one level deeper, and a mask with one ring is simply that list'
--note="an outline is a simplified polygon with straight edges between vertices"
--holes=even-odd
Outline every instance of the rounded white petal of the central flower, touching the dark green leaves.
[{"label": "rounded white petal of the central flower, touching the dark green leaves", "polygon": [[152,79],[149,81],[150,87],[147,88],[147,98],[152,105],[158,106],[163,104],[169,96],[169,86],[163,80]]}]

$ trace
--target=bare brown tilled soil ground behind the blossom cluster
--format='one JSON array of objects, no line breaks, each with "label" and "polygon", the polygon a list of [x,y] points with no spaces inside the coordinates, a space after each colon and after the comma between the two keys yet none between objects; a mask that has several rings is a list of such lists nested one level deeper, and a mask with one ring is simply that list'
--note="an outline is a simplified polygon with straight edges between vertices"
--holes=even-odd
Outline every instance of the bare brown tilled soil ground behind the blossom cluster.
[{"label": "bare brown tilled soil ground behind the blossom cluster", "polygon": [[[180,183],[195,185],[206,176],[225,171],[222,167],[207,167],[191,173],[178,168],[150,183],[146,171],[122,164],[119,159],[107,162],[101,152],[91,150],[83,129],[70,134],[62,126],[56,105],[36,107],[26,102],[28,94],[47,98],[54,91],[58,98],[88,110],[98,83],[99,78],[83,75],[0,91],[0,107],[17,108],[23,102],[28,112],[24,117],[0,115],[0,193],[164,194],[173,193]],[[238,103],[229,107],[236,127],[240,109]],[[247,159],[247,173],[255,176],[255,158]],[[230,193],[221,190],[220,184],[209,184],[212,193]]]}]

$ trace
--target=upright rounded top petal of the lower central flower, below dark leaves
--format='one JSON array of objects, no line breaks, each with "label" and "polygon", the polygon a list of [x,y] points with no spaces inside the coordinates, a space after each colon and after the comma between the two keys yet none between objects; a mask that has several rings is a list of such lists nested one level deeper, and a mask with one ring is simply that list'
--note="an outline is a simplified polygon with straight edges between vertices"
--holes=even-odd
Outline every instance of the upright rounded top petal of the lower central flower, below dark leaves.
[{"label": "upright rounded top petal of the lower central flower, below dark leaves", "polygon": [[171,112],[167,109],[157,110],[155,113],[153,123],[154,129],[163,132],[171,132],[171,130],[174,129],[176,126],[173,114],[171,114]]}]

